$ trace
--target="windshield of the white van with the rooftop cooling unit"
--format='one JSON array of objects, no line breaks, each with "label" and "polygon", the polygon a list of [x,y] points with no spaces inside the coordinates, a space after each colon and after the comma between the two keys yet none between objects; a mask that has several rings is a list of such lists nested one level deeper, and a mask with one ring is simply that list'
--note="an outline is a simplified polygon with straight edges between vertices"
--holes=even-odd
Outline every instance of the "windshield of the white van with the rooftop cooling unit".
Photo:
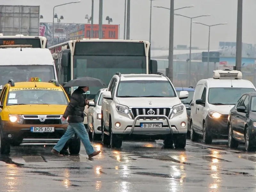
[{"label": "windshield of the white van with the rooftop cooling unit", "polygon": [[208,102],[210,104],[235,105],[239,98],[247,92],[255,92],[253,88],[210,88]]}]

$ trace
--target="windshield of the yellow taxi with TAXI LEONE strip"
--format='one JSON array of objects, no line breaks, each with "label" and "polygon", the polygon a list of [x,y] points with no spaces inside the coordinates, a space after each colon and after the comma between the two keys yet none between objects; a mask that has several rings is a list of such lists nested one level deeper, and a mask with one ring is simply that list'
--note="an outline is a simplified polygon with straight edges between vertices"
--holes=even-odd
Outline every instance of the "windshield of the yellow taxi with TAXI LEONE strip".
[{"label": "windshield of the yellow taxi with TAXI LEONE strip", "polygon": [[6,105],[68,105],[62,89],[40,87],[19,89],[10,89]]}]

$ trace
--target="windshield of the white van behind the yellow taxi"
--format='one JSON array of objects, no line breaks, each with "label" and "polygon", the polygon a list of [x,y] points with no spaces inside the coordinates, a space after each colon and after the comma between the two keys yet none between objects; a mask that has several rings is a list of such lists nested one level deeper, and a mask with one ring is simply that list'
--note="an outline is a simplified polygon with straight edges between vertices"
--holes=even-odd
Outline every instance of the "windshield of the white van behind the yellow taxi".
[{"label": "windshield of the white van behind the yellow taxi", "polygon": [[[39,77],[43,82],[55,79],[52,65],[12,65],[0,66],[0,89],[9,79],[14,82],[29,81],[30,77]],[[1,86],[2,85],[2,86]]]}]

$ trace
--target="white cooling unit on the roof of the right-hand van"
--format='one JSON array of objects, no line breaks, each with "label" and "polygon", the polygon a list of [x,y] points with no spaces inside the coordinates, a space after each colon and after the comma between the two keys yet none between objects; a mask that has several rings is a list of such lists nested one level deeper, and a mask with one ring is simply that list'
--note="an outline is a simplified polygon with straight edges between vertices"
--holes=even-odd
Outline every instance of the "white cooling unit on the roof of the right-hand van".
[{"label": "white cooling unit on the roof of the right-hand van", "polygon": [[237,70],[214,70],[213,71],[214,79],[242,79],[243,75],[241,71]]}]

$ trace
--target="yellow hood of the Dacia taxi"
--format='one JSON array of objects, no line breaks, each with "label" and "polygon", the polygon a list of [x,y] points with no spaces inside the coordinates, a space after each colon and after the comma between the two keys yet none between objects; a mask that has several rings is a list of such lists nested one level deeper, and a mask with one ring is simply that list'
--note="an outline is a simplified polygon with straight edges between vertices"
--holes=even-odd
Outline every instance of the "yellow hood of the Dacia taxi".
[{"label": "yellow hood of the Dacia taxi", "polygon": [[15,115],[62,115],[67,105],[9,105],[10,114]]}]

